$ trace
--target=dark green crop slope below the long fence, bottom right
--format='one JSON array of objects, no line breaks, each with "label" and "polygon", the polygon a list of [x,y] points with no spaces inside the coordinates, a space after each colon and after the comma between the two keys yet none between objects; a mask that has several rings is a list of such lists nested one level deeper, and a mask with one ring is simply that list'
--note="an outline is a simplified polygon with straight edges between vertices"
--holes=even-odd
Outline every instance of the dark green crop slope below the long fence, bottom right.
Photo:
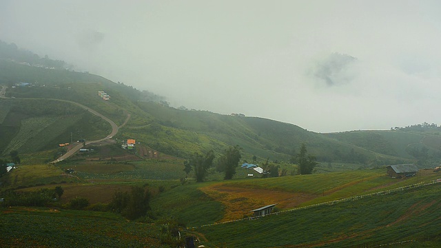
[{"label": "dark green crop slope below the long fence, bottom right", "polygon": [[416,240],[411,245],[438,247],[440,193],[436,184],[196,231],[209,240],[208,246],[353,247]]}]

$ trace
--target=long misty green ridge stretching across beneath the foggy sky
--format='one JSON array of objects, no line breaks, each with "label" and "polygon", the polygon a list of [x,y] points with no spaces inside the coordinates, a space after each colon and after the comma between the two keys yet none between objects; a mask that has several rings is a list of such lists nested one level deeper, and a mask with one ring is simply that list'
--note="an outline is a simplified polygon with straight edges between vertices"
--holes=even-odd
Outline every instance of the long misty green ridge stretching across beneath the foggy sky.
[{"label": "long misty green ridge stretching across beneath the foggy sky", "polygon": [[[141,92],[132,86],[114,83],[94,74],[64,69],[51,70],[23,65],[9,59],[0,59],[0,70],[6,72],[0,75],[0,84],[8,86],[6,96],[15,98],[0,100],[0,120],[3,120],[1,127],[3,137],[6,137],[0,144],[3,155],[9,150],[6,147],[12,147],[11,142],[17,140],[20,140],[17,144],[23,145],[14,147],[21,152],[29,150],[25,149],[28,142],[17,135],[23,135],[20,129],[31,128],[28,127],[29,123],[33,123],[30,116],[18,118],[19,125],[10,125],[5,120],[10,121],[10,116],[19,115],[16,104],[32,105],[31,100],[25,99],[33,98],[78,102],[101,112],[118,125],[130,113],[132,118],[116,138],[135,138],[152,149],[181,158],[187,158],[193,152],[205,152],[209,149],[221,152],[228,145],[240,145],[243,147],[245,160],[251,161],[256,156],[261,161],[266,158],[271,161],[289,161],[302,143],[307,145],[308,152],[314,154],[321,163],[354,163],[362,167],[418,163],[421,167],[433,167],[441,158],[441,136],[433,130],[417,133],[391,130],[318,134],[296,125],[265,118],[176,109],[170,107],[163,97],[152,92]],[[29,85],[15,86],[19,83]],[[110,101],[103,101],[97,94],[99,90],[109,94]],[[18,99],[22,99],[20,103]],[[14,101],[16,102],[13,103]],[[48,109],[56,109],[59,105],[55,101],[45,101],[44,104]],[[48,118],[50,114],[57,118],[63,116],[62,112],[35,112],[32,118]],[[81,123],[84,123],[80,121],[81,118],[86,117],[77,116],[68,125],[61,125],[65,126],[65,130],[60,130],[59,135],[65,137],[72,130],[88,130],[87,127],[81,127]],[[96,125],[97,127],[90,130],[98,130],[99,125],[105,124]],[[47,131],[44,131],[43,126],[41,128],[40,135],[44,136],[43,133]],[[76,138],[90,138],[99,134],[92,131],[82,132],[81,137]],[[59,141],[59,138],[53,137],[48,143],[57,144]],[[32,147],[35,147],[33,150],[48,148],[44,145]]]}]

